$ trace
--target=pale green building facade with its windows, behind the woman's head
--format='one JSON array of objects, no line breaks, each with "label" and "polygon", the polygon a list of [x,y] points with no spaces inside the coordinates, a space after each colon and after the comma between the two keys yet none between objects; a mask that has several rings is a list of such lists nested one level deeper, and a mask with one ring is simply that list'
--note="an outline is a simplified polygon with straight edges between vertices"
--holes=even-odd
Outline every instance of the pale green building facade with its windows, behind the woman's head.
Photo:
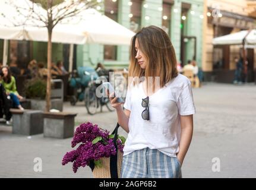
[{"label": "pale green building facade with its windows, behind the woman's head", "polygon": [[[183,65],[196,59],[202,65],[203,0],[105,0],[105,15],[133,30],[144,26],[162,27]],[[77,65],[128,68],[128,46],[78,45]]]}]

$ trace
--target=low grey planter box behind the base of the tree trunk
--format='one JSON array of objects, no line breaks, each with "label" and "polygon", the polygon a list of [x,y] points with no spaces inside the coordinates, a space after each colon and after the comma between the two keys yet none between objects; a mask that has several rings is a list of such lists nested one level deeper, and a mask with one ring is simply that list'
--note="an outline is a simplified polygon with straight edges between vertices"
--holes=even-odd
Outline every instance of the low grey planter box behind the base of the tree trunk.
[{"label": "low grey planter box behind the base of the tree trunk", "polygon": [[[45,110],[46,107],[46,101],[45,100],[36,100],[36,99],[30,99],[30,105],[31,109],[37,109],[37,110]],[[63,101],[61,99],[52,99],[50,100],[51,108],[50,109],[57,109],[62,112],[63,110]]]}]

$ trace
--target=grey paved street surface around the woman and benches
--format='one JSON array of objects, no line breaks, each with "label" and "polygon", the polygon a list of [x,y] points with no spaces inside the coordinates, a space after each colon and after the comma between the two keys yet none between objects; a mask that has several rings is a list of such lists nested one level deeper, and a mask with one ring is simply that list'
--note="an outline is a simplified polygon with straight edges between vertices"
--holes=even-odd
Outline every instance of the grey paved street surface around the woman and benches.
[{"label": "grey paved street surface around the woman and benches", "polygon": [[[256,85],[206,83],[194,88],[193,96],[197,113],[183,178],[256,178]],[[90,121],[112,131],[117,121],[106,109],[88,115],[84,102],[65,102],[64,111],[78,113],[77,125]],[[121,128],[119,134],[127,137]],[[0,178],[92,178],[89,167],[73,173],[71,164],[62,166],[71,140],[15,135],[11,126],[0,124]],[[34,172],[36,157],[42,159],[42,172]],[[212,170],[214,158],[219,172]]]}]

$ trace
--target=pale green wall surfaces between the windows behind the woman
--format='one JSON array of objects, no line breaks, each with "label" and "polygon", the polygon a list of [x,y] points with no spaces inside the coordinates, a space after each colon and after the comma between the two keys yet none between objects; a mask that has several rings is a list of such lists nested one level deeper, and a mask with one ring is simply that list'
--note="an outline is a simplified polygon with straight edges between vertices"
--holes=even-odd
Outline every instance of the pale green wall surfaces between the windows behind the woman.
[{"label": "pale green wall surfaces between the windows behind the woman", "polygon": [[[118,23],[129,29],[129,17],[130,6],[129,0],[118,1]],[[171,9],[171,21],[170,21],[170,39],[175,47],[177,60],[180,61],[181,56],[181,7],[182,2],[191,4],[191,9],[195,11],[194,15],[188,13],[187,24],[185,26],[185,34],[188,36],[197,37],[197,62],[198,66],[201,66],[201,53],[202,53],[202,32],[203,32],[203,20],[199,15],[203,14],[203,0],[176,0]],[[143,5],[147,4],[145,8]],[[142,26],[162,26],[162,11],[159,11],[159,7],[162,7],[162,0],[144,0],[141,6],[141,25]],[[104,7],[103,7],[104,9]],[[178,12],[175,12],[177,9]],[[145,17],[149,19],[146,20]],[[193,42],[186,43],[185,58],[192,59],[194,48]],[[103,62],[107,68],[128,68],[129,64],[129,46],[118,46],[116,61],[103,60],[103,45],[79,45],[77,47],[77,65],[96,66],[97,62]]]}]

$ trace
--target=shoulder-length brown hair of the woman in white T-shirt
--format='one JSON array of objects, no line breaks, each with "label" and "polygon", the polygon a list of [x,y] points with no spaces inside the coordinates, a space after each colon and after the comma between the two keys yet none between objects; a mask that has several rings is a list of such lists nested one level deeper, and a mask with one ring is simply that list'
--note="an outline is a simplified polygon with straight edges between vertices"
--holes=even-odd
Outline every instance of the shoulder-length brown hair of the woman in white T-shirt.
[{"label": "shoulder-length brown hair of the woman in white T-shirt", "polygon": [[[146,69],[138,64],[135,41],[148,61]],[[160,87],[178,75],[175,50],[166,32],[156,26],[143,27],[131,40],[129,77],[160,77]],[[135,82],[136,83],[136,82]],[[138,84],[138,81],[137,81]],[[154,88],[154,87],[153,87]]]}]

